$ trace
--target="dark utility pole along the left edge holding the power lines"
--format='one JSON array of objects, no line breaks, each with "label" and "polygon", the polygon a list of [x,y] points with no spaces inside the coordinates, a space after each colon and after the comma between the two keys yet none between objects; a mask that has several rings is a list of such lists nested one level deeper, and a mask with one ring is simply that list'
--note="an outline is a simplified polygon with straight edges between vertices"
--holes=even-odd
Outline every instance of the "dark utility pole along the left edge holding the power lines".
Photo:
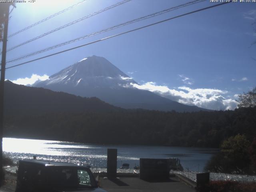
[{"label": "dark utility pole along the left edge holding the power lines", "polygon": [[5,80],[5,64],[6,64],[6,46],[7,46],[7,32],[9,21],[9,7],[10,3],[1,3],[4,6],[4,36],[2,48],[2,62],[1,62],[1,78],[0,78],[0,186],[4,181],[3,172],[3,130],[4,130],[4,80]]}]

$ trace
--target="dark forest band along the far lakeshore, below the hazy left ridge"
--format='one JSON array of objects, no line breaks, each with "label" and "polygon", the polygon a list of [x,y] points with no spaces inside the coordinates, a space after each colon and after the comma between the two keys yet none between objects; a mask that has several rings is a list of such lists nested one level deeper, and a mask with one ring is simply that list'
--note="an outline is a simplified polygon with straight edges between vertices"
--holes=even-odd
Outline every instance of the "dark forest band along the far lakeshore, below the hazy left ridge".
[{"label": "dark forest band along the far lakeshore, below the hazy left ridge", "polygon": [[5,137],[101,144],[154,144],[219,147],[230,136],[256,134],[256,107],[234,111],[47,113],[8,116]]}]

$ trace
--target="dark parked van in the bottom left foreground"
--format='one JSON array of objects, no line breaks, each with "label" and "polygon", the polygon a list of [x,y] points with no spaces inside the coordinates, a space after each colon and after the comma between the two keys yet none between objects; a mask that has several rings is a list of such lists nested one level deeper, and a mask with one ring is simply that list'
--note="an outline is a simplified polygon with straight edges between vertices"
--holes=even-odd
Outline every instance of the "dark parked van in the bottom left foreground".
[{"label": "dark parked van in the bottom left foreground", "polygon": [[20,160],[16,192],[106,192],[88,166],[44,160]]}]

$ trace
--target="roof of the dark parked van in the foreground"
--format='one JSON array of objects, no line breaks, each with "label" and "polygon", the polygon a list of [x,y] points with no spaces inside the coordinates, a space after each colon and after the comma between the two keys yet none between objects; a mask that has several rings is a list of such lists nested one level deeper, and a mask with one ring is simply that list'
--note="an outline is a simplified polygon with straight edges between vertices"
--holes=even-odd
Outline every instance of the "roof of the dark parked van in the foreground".
[{"label": "roof of the dark parked van in the foreground", "polygon": [[40,164],[43,166],[69,166],[69,167],[71,166],[71,167],[79,167],[79,168],[89,168],[88,166],[76,165],[72,163],[54,162],[54,161],[36,160],[36,159],[20,160],[20,163]]}]

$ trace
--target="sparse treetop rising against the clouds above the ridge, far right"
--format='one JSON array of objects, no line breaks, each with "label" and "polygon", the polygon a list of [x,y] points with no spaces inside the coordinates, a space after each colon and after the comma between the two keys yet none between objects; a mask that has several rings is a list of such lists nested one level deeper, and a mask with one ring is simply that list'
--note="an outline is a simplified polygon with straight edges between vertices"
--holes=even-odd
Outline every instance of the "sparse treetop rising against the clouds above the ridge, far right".
[{"label": "sparse treetop rising against the clouds above the ridge, far right", "polygon": [[238,107],[255,107],[256,106],[256,87],[248,93],[243,93],[238,96]]}]

